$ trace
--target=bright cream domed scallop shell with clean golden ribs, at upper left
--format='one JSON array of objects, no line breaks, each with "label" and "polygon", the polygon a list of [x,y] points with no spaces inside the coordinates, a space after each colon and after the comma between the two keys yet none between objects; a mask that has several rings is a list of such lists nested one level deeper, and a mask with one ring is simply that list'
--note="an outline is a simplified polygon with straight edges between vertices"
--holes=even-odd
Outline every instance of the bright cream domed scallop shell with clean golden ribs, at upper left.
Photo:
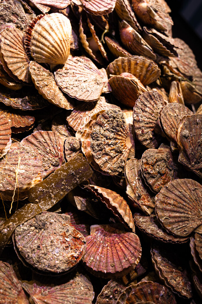
[{"label": "bright cream domed scallop shell with clean golden ribs, at upper left", "polygon": [[65,64],[70,54],[69,19],[60,13],[40,16],[26,29],[25,50],[39,63]]}]

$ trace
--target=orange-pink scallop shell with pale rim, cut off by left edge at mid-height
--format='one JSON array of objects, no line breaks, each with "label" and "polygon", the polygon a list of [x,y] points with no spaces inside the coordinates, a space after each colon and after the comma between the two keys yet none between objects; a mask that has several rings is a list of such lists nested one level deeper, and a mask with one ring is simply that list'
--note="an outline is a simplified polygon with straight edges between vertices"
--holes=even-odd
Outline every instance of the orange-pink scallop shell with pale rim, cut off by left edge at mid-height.
[{"label": "orange-pink scallop shell with pale rim, cut off by left edge at mid-height", "polygon": [[11,146],[11,128],[8,119],[0,111],[0,158],[5,155]]}]

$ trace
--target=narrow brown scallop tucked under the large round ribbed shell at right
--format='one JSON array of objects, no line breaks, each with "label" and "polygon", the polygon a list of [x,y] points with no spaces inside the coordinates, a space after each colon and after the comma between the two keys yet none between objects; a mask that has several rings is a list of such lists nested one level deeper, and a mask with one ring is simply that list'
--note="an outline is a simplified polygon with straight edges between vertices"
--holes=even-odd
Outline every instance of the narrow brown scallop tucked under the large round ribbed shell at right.
[{"label": "narrow brown scallop tucked under the large round ribbed shell at right", "polygon": [[157,241],[161,241],[164,243],[186,243],[189,238],[188,237],[176,237],[173,234],[168,233],[159,223],[155,214],[151,214],[150,216],[141,215],[140,213],[134,214],[135,225],[147,236],[155,239]]}]

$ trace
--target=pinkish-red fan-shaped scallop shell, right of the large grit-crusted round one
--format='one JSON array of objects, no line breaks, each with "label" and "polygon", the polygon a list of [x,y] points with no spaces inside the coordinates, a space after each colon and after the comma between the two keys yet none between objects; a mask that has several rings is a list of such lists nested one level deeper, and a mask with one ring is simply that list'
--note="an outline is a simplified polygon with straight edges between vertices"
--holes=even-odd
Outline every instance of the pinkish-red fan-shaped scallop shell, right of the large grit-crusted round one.
[{"label": "pinkish-red fan-shaped scallop shell, right of the large grit-crusted round one", "polygon": [[86,237],[83,262],[97,276],[121,277],[139,263],[140,257],[141,244],[134,233],[110,225],[97,225]]}]

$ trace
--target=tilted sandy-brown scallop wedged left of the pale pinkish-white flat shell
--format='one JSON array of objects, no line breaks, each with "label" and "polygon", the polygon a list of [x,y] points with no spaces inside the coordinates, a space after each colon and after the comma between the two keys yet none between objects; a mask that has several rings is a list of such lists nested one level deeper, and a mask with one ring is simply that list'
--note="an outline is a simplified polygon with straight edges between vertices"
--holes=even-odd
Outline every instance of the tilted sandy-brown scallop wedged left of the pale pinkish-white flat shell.
[{"label": "tilted sandy-brown scallop wedged left of the pale pinkish-white flat shell", "polygon": [[53,73],[35,61],[30,62],[29,70],[35,88],[43,98],[60,108],[64,108],[66,110],[73,109],[71,103],[58,88]]}]

